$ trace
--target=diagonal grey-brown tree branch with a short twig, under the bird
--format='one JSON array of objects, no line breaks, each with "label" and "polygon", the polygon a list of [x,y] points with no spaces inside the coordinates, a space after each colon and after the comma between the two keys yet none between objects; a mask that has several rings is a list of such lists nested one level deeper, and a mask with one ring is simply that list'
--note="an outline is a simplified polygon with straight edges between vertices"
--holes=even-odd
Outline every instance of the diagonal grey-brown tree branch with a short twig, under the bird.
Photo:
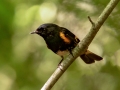
[{"label": "diagonal grey-brown tree branch with a short twig, under the bird", "polygon": [[94,23],[91,20],[91,18],[88,16],[88,19],[92,24],[90,32],[73,50],[74,57],[71,55],[68,55],[68,57],[65,60],[63,60],[63,62],[58,66],[58,68],[55,70],[52,76],[48,79],[45,85],[41,88],[41,90],[50,90],[53,87],[53,85],[57,82],[57,80],[61,77],[61,75],[65,72],[65,70],[72,64],[72,62],[78,56],[84,53],[84,51],[87,49],[87,47],[90,45],[93,38],[99,31],[100,27],[103,25],[103,23],[108,18],[108,16],[113,11],[113,9],[115,8],[115,6],[118,4],[119,1],[120,0],[111,0],[106,6],[106,8],[103,10],[101,15],[98,17],[98,20],[96,21],[96,23]]}]

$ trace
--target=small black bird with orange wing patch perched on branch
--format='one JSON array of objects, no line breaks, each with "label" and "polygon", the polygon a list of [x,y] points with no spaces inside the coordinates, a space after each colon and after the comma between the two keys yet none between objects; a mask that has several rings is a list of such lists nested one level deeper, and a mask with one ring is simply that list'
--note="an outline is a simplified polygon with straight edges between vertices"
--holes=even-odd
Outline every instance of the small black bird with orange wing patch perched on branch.
[{"label": "small black bird with orange wing patch perched on branch", "polygon": [[[60,63],[63,61],[66,53],[70,53],[73,56],[72,50],[80,42],[79,38],[70,30],[53,23],[42,24],[31,34],[41,36],[45,40],[48,49],[61,56],[62,60]],[[103,59],[89,50],[86,50],[80,57],[86,64],[92,64]]]}]

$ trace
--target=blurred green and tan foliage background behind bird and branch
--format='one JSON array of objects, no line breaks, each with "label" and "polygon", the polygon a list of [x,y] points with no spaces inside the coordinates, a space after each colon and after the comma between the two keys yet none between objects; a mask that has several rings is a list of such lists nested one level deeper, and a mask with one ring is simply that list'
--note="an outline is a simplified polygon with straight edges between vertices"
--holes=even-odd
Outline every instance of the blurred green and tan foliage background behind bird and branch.
[{"label": "blurred green and tan foliage background behind bird and branch", "polygon": [[[39,90],[60,57],[38,35],[47,22],[64,26],[83,38],[109,0],[1,0],[0,90]],[[91,65],[78,58],[52,90],[120,90],[120,5],[114,9],[89,49],[103,56]]]}]

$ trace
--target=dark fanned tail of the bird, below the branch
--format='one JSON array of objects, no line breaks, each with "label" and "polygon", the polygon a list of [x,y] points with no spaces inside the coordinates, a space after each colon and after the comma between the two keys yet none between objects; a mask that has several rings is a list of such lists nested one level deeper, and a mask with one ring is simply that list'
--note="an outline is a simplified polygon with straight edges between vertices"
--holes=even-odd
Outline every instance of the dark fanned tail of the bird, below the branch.
[{"label": "dark fanned tail of the bird, below the branch", "polygon": [[87,64],[91,64],[91,63],[94,63],[95,60],[96,61],[100,61],[102,60],[103,58],[90,52],[89,50],[87,50],[84,54],[82,54],[80,56],[82,58],[82,60],[87,63]]}]

